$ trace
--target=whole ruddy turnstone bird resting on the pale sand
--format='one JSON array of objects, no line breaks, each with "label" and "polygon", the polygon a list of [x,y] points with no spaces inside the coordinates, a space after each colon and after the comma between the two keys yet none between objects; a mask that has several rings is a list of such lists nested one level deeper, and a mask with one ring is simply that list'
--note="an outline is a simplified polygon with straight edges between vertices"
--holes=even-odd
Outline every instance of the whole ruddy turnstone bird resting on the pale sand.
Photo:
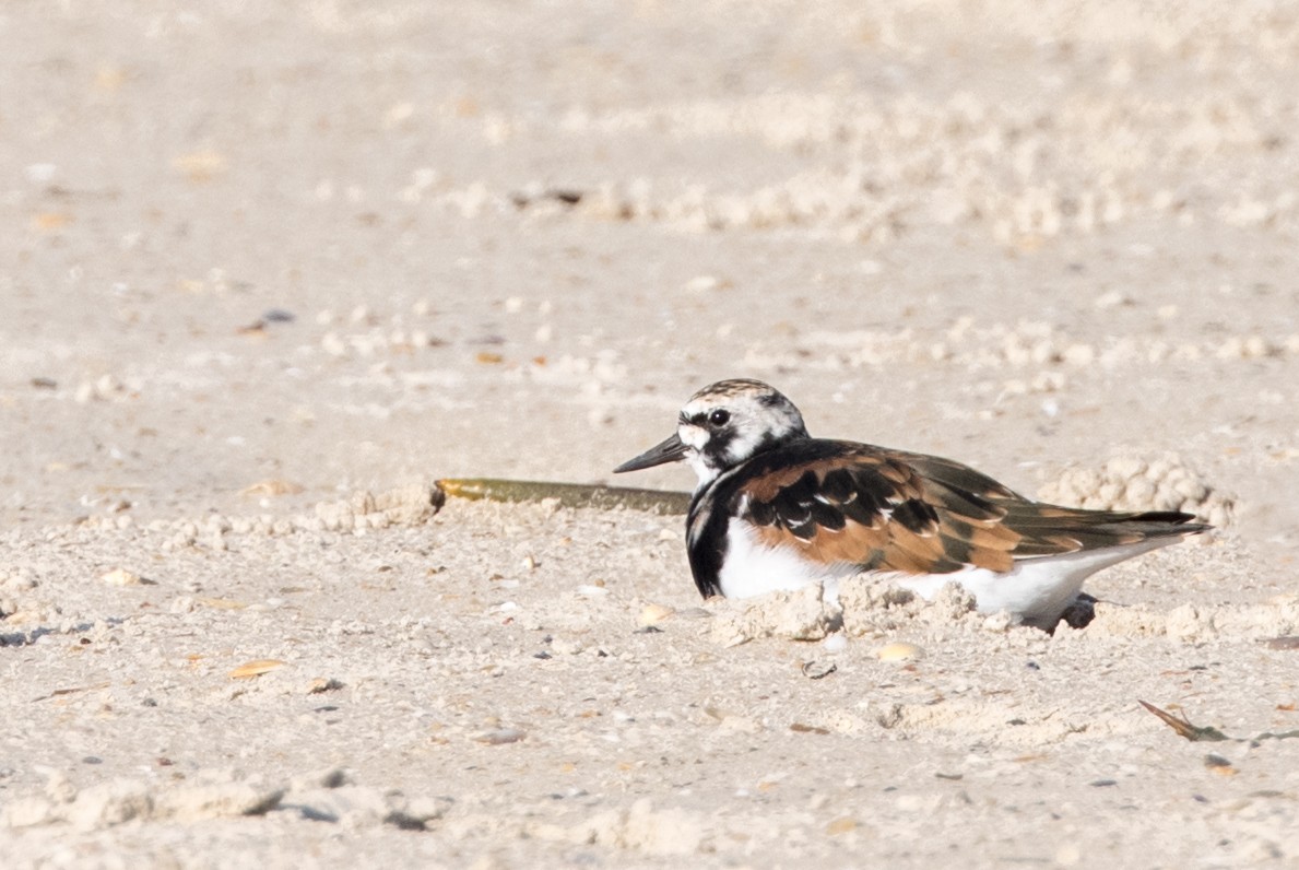
[{"label": "whole ruddy turnstone bird resting on the pale sand", "polygon": [[813,438],[761,381],[699,390],[672,437],[614,472],[681,459],[699,476],[686,532],[705,598],[859,572],[930,597],[955,580],[979,611],[1052,631],[1091,573],[1211,528],[1177,511],[1044,505],[951,459]]}]

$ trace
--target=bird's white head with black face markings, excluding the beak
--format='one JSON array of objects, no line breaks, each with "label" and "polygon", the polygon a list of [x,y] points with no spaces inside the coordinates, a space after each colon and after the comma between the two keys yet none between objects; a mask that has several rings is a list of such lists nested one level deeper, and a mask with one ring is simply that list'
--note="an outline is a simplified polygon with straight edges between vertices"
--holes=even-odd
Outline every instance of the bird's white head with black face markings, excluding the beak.
[{"label": "bird's white head with black face markings, excluding the beak", "polygon": [[803,415],[761,381],[731,380],[691,397],[677,420],[685,459],[705,486],[727,468],[792,438],[807,438]]}]

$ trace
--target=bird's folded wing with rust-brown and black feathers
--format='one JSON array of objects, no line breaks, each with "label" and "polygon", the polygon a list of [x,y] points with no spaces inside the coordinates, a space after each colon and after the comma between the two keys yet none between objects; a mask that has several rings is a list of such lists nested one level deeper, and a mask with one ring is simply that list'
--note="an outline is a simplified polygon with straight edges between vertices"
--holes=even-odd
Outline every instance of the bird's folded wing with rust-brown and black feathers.
[{"label": "bird's folded wing with rust-brown and black feathers", "polygon": [[960,463],[850,442],[837,442],[833,455],[750,479],[731,512],[751,520],[768,546],[903,573],[972,566],[1004,572],[1018,559],[1208,528],[1172,511],[1043,505]]}]

